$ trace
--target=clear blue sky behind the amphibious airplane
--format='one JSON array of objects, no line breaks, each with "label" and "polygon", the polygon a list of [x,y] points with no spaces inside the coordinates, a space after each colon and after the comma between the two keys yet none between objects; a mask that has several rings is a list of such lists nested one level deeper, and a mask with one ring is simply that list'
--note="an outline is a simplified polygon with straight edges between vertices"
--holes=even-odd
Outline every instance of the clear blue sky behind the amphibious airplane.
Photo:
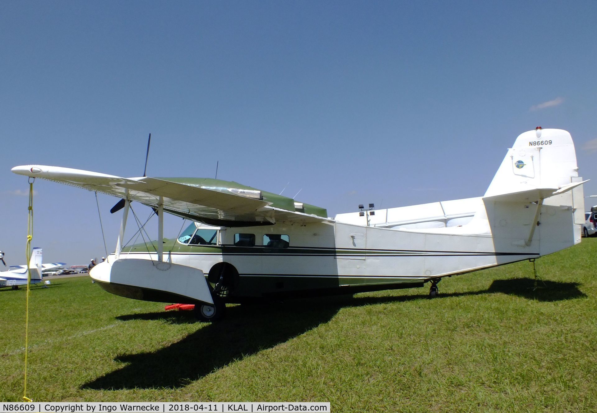
[{"label": "clear blue sky behind the amphibious airplane", "polygon": [[[150,176],[219,161],[221,179],[290,182],[333,216],[480,196],[541,125],[571,132],[597,194],[596,18],[595,1],[4,0],[0,249],[23,263],[27,180],[11,167],[140,176],[149,132]],[[93,192],[35,190],[44,262],[104,255]],[[108,251],[115,201],[99,195]]]}]

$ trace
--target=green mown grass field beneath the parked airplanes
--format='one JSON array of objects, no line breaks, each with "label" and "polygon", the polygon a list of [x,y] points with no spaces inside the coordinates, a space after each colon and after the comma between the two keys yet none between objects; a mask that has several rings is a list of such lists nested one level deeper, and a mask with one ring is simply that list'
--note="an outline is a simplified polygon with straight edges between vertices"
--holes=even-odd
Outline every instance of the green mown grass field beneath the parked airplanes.
[{"label": "green mown grass field beneath the parked airplanes", "polygon": [[[597,238],[429,288],[228,306],[217,324],[90,278],[30,293],[36,401],[329,401],[334,412],[597,411]],[[427,284],[428,285],[428,284]],[[0,399],[23,396],[25,291],[0,290]]]}]

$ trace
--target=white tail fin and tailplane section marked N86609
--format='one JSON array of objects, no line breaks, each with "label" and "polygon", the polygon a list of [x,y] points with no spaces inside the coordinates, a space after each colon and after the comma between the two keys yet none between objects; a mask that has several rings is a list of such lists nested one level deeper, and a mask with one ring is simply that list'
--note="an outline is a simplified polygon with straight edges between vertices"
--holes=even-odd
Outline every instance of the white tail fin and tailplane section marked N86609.
[{"label": "white tail fin and tailplane section marked N86609", "polygon": [[488,222],[498,249],[550,254],[580,242],[581,183],[570,133],[537,128],[516,138],[475,218]]}]

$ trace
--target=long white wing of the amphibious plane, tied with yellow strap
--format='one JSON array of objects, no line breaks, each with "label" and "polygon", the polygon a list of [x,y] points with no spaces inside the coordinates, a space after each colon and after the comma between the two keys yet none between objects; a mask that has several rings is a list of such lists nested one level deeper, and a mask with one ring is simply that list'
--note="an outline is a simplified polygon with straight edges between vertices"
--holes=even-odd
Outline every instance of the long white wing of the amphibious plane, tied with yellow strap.
[{"label": "long white wing of the amphibious plane, tied with yellow strap", "polygon": [[263,199],[242,195],[259,191],[205,188],[149,177],[122,178],[57,166],[25,165],[16,166],[12,171],[19,175],[47,179],[138,201],[154,209],[162,203],[165,212],[211,225],[250,226],[267,225],[276,221],[288,223],[332,221],[317,215],[280,209]]}]

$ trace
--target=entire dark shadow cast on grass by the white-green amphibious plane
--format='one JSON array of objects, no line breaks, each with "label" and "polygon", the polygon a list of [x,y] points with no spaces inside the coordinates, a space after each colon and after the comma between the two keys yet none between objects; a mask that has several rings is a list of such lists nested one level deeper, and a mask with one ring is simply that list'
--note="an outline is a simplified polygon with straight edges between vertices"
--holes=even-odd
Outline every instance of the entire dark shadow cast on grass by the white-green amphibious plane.
[{"label": "entire dark shadow cast on grass by the white-green amphibious plane", "polygon": [[[552,302],[586,297],[578,282],[514,278],[493,281],[486,290],[440,294],[442,297],[504,293],[530,300]],[[300,336],[330,321],[341,308],[378,303],[407,302],[426,299],[424,294],[367,297],[337,296],[325,299],[289,300],[286,303],[233,306],[223,321],[207,324],[184,339],[155,352],[127,354],[116,361],[127,365],[96,380],[82,389],[151,389],[184,387],[237,359],[269,349]],[[190,312],[152,312],[122,315],[122,321],[162,320],[173,324],[194,323]]]}]

